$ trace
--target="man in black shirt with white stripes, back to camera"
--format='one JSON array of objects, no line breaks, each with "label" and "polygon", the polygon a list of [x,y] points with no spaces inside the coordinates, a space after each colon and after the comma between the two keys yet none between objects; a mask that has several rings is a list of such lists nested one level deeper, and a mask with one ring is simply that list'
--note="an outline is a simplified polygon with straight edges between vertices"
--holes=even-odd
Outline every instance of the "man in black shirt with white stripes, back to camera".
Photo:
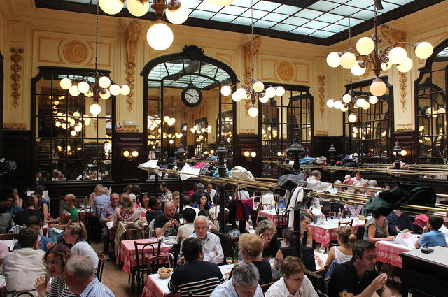
[{"label": "man in black shirt with white stripes, back to camera", "polygon": [[224,281],[221,270],[215,263],[202,261],[204,252],[199,238],[189,237],[182,244],[186,264],[174,270],[168,284],[169,291],[180,292],[182,297],[193,295],[209,295]]}]

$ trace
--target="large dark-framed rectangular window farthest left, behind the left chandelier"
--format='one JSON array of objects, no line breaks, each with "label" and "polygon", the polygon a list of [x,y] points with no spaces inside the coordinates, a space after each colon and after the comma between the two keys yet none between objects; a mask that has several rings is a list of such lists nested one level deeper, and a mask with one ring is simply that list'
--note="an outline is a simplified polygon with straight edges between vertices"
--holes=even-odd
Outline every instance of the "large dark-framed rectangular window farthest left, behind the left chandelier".
[{"label": "large dark-framed rectangular window farthest left, behind the left chandelier", "polygon": [[39,70],[31,82],[34,170],[47,181],[111,180],[114,96],[99,100],[102,112],[93,116],[92,98],[82,93],[71,96],[59,85],[62,78],[86,79],[90,69],[41,66]]}]

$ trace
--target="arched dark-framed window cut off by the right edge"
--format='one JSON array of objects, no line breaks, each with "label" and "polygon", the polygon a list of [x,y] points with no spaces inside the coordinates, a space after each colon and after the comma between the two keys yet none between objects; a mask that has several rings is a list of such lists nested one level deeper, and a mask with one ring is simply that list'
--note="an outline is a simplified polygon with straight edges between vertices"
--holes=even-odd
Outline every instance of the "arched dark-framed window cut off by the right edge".
[{"label": "arched dark-framed window cut off by the right edge", "polygon": [[414,82],[418,163],[447,161],[448,39],[437,45]]}]

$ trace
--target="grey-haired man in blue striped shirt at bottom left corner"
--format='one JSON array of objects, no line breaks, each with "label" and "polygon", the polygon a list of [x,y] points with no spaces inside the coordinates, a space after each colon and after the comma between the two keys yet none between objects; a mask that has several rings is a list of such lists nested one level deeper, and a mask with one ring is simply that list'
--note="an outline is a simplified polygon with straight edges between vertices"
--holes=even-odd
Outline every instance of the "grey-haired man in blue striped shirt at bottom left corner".
[{"label": "grey-haired man in blue striped shirt at bottom left corner", "polygon": [[69,290],[79,297],[115,297],[111,289],[99,282],[92,262],[85,256],[73,256],[67,261],[64,279]]}]

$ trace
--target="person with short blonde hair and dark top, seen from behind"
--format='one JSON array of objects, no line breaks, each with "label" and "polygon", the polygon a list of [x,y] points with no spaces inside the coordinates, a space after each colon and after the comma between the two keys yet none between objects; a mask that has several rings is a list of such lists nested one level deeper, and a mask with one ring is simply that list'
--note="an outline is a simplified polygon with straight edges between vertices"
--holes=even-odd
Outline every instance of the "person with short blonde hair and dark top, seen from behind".
[{"label": "person with short blonde hair and dark top, seen from behind", "polygon": [[244,233],[239,236],[239,254],[245,263],[253,263],[260,273],[259,284],[272,282],[271,264],[261,259],[263,241],[260,236]]}]

